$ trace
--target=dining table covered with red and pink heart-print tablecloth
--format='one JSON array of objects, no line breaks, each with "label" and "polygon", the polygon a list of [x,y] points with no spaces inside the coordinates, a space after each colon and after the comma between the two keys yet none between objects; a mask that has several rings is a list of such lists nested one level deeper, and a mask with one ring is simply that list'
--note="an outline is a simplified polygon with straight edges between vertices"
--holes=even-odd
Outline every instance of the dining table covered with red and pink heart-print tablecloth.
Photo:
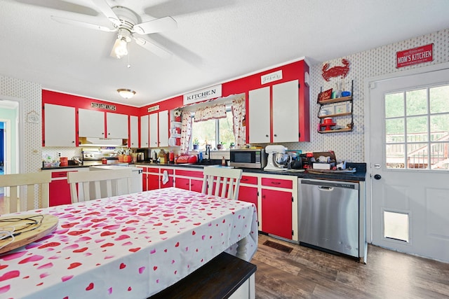
[{"label": "dining table covered with red and pink heart-print tablecloth", "polygon": [[254,204],[180,188],[9,215],[20,214],[58,225],[0,255],[0,298],[148,298],[224,251],[257,250]]}]

